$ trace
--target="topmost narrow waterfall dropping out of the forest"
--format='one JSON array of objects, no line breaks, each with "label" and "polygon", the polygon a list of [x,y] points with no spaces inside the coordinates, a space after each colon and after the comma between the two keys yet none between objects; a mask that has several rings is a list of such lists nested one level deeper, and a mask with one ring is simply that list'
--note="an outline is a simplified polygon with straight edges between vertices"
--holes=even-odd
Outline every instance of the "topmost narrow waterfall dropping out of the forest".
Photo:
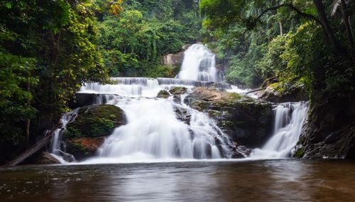
[{"label": "topmost narrow waterfall dropping out of the forest", "polygon": [[190,46],[185,51],[177,78],[207,82],[222,81],[222,75],[216,68],[216,56],[200,43]]}]

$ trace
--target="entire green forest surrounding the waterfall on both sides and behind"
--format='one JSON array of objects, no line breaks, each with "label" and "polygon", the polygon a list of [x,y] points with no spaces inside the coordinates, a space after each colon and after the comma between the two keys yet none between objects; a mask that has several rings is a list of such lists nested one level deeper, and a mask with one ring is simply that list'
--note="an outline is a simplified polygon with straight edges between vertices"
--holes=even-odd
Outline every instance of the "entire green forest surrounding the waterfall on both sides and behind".
[{"label": "entire green forest surrounding the waterfall on both sides and behind", "polygon": [[198,41],[226,61],[226,83],[272,78],[280,93],[307,92],[318,130],[354,124],[354,1],[2,0],[0,11],[6,147],[35,142],[83,83],[173,78],[160,58]]}]

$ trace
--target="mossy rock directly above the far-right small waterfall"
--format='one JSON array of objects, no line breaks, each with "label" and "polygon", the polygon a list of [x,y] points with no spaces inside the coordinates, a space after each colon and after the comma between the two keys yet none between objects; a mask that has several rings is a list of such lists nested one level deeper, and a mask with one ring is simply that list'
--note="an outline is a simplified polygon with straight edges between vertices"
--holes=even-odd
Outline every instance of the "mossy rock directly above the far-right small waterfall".
[{"label": "mossy rock directly above the far-right small waterfall", "polygon": [[300,102],[309,100],[303,85],[273,83],[261,94],[261,99],[269,102]]}]

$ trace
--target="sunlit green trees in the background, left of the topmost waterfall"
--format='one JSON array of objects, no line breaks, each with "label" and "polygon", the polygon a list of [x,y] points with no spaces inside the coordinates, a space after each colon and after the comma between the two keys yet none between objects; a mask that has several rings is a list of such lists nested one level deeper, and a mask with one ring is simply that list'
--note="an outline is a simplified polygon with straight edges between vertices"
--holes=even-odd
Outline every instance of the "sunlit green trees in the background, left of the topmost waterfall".
[{"label": "sunlit green trees in the background, left of the topmost waterfall", "polygon": [[[182,6],[182,7],[179,7]],[[125,1],[119,16],[104,14],[99,21],[100,52],[111,76],[175,76],[159,65],[197,40],[200,20],[180,1]]]}]

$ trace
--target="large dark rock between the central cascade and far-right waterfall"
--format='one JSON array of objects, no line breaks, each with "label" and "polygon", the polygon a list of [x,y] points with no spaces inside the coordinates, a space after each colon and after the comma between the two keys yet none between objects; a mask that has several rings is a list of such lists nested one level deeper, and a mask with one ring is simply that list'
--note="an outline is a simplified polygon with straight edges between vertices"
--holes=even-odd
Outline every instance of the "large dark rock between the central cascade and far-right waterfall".
[{"label": "large dark rock between the central cascade and far-right waterfall", "polygon": [[273,107],[270,102],[211,87],[195,87],[184,102],[214,118],[217,125],[239,145],[261,147],[271,135]]}]

